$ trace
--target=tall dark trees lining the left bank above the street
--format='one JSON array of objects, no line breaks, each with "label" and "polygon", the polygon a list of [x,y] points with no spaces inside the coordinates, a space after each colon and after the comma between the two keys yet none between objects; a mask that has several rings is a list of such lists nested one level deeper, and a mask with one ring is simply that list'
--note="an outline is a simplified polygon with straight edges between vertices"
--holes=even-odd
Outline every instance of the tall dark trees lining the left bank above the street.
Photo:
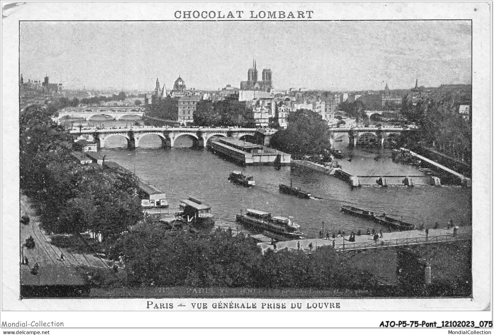
[{"label": "tall dark trees lining the left bank above the street", "polygon": [[19,123],[20,186],[36,200],[47,231],[92,230],[111,239],[142,218],[135,176],[75,161],[70,134],[41,106],[26,108]]}]

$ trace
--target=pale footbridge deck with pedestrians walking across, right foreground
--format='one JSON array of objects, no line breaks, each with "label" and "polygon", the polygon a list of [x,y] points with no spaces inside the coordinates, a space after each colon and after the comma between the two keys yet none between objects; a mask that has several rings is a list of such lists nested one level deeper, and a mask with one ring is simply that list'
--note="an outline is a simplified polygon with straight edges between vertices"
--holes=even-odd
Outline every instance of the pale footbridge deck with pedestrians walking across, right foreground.
[{"label": "pale footbridge deck with pedestrians walking across, right foreground", "polygon": [[[377,232],[379,233],[379,232]],[[382,233],[382,237],[375,241],[372,235],[355,235],[355,242],[350,242],[349,240],[350,232],[347,236],[335,237],[324,239],[324,238],[310,238],[310,239],[299,239],[291,241],[280,241],[276,242],[276,250],[274,250],[274,245],[271,243],[257,243],[261,247],[262,252],[265,253],[268,249],[275,252],[284,251],[311,251],[309,247],[312,244],[312,250],[320,248],[322,246],[331,246],[334,241],[335,251],[352,251],[352,250],[363,250],[363,249],[375,249],[375,248],[388,248],[394,246],[405,246],[405,245],[416,245],[416,244],[429,244],[429,243],[440,243],[440,242],[452,242],[472,238],[472,227],[460,226],[458,227],[456,234],[453,232],[453,228],[437,228],[428,229],[428,233],[425,230],[405,230],[405,231],[395,231]],[[300,245],[300,249],[298,248]]]}]

